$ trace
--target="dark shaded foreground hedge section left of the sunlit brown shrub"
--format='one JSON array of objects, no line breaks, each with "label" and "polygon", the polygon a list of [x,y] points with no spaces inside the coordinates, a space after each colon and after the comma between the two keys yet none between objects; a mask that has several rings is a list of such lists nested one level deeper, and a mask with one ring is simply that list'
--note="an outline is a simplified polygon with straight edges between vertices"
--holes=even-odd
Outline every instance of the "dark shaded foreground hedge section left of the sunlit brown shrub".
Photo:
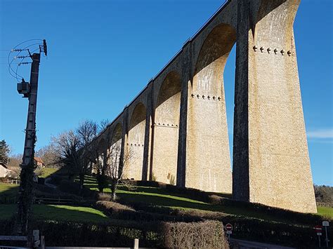
[{"label": "dark shaded foreground hedge section left of the sunlit brown shrub", "polygon": [[[159,247],[157,222],[141,223],[112,220],[105,224],[85,222],[31,221],[30,233],[39,229],[48,246],[126,247],[133,245],[133,238],[140,239],[142,247]],[[13,222],[2,220],[0,234],[11,234]]]}]

